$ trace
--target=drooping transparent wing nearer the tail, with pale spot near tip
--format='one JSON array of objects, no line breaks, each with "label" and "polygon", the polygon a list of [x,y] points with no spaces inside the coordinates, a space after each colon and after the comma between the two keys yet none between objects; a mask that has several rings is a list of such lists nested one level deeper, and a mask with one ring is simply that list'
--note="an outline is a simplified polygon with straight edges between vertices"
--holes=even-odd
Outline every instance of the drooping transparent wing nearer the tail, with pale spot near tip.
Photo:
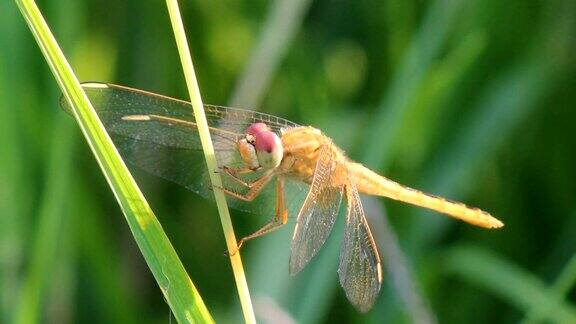
[{"label": "drooping transparent wing nearer the tail, with pale spot near tip", "polygon": [[356,186],[346,185],[346,226],[338,275],[348,300],[361,312],[372,308],[382,282],[380,256]]}]

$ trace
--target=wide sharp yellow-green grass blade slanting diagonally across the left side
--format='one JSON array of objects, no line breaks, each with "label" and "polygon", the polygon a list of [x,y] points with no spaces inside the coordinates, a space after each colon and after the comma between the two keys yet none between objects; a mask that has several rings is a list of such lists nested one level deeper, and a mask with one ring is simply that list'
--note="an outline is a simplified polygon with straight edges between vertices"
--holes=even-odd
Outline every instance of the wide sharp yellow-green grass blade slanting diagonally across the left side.
[{"label": "wide sharp yellow-green grass blade slanting diagonally across the left side", "polygon": [[179,322],[213,322],[172,244],[120,158],[34,1],[16,0]]}]

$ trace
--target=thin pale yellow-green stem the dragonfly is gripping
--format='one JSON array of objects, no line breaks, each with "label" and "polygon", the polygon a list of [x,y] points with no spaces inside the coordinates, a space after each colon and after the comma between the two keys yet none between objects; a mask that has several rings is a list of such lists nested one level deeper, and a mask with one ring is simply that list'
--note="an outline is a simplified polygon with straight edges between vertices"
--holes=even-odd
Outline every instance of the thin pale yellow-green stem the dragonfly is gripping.
[{"label": "thin pale yellow-green stem the dragonfly is gripping", "polygon": [[[188,93],[190,94],[192,108],[194,110],[194,119],[198,126],[198,133],[200,135],[206,165],[208,170],[216,171],[218,170],[216,155],[214,154],[214,147],[212,146],[210,132],[208,131],[208,122],[206,121],[206,115],[204,114],[204,105],[202,104],[200,88],[198,86],[198,81],[196,80],[194,65],[192,64],[190,48],[188,48],[188,43],[186,41],[186,33],[184,32],[184,25],[182,23],[182,17],[180,16],[178,1],[167,0],[166,5],[170,14],[170,21],[172,22],[172,28],[178,46],[178,53],[180,54],[184,76],[186,77]],[[220,179],[220,174],[217,172],[208,173],[210,174],[212,187],[222,188],[222,179]],[[244,275],[244,266],[242,265],[240,251],[238,251],[238,246],[236,244],[236,236],[234,235],[234,229],[232,228],[232,220],[230,219],[230,211],[228,210],[226,197],[222,190],[215,189],[214,198],[216,200],[216,206],[218,207],[218,213],[220,214],[220,220],[222,222],[224,236],[226,237],[226,246],[228,247],[228,251],[236,251],[234,254],[230,254],[230,262],[236,280],[240,304],[242,305],[242,311],[244,313],[244,320],[246,323],[256,323],[254,309],[252,308],[252,300],[250,299],[250,292],[248,291],[246,276]]]}]

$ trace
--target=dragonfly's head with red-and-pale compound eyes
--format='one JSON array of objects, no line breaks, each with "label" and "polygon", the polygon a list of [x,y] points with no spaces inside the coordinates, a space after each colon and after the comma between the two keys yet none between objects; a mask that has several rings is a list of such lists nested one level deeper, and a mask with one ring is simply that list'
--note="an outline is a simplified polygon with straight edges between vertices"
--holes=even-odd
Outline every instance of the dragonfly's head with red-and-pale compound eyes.
[{"label": "dragonfly's head with red-and-pale compound eyes", "polygon": [[251,169],[273,169],[284,155],[282,141],[264,123],[254,123],[246,130],[246,138],[238,142],[240,156]]}]

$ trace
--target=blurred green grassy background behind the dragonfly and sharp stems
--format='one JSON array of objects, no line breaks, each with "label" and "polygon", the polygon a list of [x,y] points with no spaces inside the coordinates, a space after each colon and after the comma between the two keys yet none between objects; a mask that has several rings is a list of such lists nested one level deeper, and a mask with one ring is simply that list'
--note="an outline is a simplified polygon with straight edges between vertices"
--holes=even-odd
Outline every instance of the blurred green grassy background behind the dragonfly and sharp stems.
[{"label": "blurred green grassy background behind the dragonfly and sharp stems", "polygon": [[[82,81],[186,98],[162,1],[39,1]],[[243,249],[262,322],[576,322],[573,0],[181,1],[204,101],[319,127],[374,170],[499,217],[366,200],[385,262],[358,314],[341,224],[288,274],[289,226]],[[0,322],[163,323],[169,308],[16,5],[0,4]],[[134,174],[218,322],[241,313],[215,206]],[[238,236],[267,218],[233,212]],[[25,287],[31,295],[21,292]],[[24,314],[24,315],[23,315]]]}]

